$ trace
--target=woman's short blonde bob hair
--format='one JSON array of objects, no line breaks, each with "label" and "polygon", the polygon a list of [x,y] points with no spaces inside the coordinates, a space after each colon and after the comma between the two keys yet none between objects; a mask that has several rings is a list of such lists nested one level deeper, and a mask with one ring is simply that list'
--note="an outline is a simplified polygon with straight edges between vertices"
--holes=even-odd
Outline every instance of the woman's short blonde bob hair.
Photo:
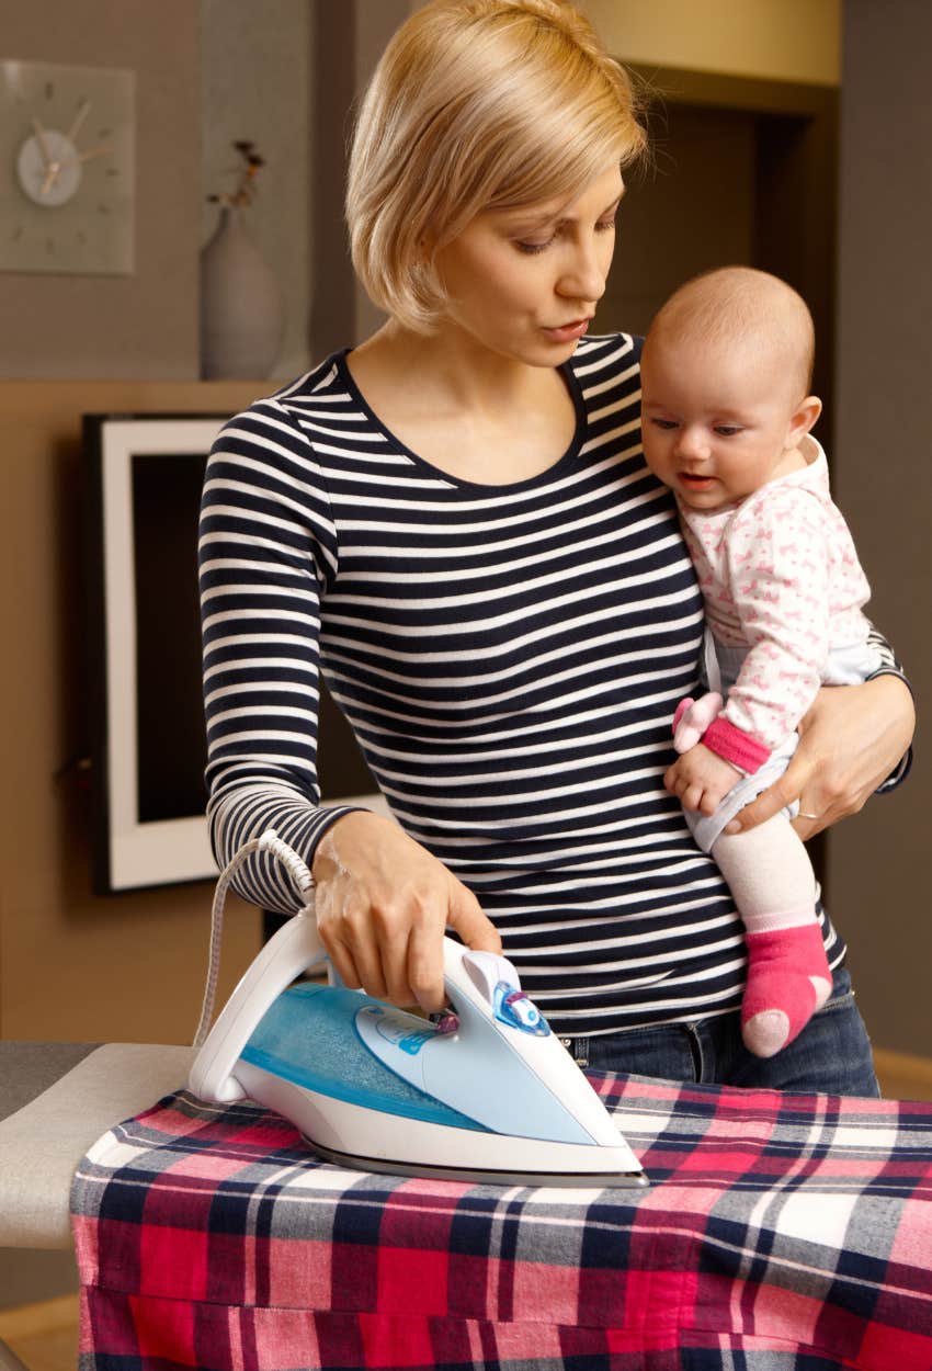
[{"label": "woman's short blonde bob hair", "polygon": [[573,196],[644,148],[628,74],[565,0],[433,0],[388,44],[347,186],[371,300],[429,333],[436,254],[487,210]]}]

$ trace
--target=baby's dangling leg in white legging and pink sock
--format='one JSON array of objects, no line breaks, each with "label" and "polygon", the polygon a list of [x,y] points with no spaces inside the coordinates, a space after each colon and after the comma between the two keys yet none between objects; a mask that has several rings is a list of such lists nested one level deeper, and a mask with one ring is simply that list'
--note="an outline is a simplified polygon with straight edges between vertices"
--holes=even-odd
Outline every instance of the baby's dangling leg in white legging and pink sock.
[{"label": "baby's dangling leg in white legging and pink sock", "polygon": [[744,1045],[773,1057],[828,999],[832,973],[816,919],[816,877],[784,814],[746,834],[722,834],[713,857],[747,930]]}]

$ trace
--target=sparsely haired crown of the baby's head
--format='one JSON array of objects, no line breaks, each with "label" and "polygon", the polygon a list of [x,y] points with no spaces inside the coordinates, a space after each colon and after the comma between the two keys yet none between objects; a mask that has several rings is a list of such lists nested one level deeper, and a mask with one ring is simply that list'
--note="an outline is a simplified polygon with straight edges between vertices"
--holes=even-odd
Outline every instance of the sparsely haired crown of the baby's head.
[{"label": "sparsely haired crown of the baby's head", "polygon": [[778,276],[750,266],[703,271],[661,306],[644,343],[650,361],[658,337],[739,344],[761,355],[783,356],[787,374],[805,396],[813,384],[816,326],[798,291]]}]

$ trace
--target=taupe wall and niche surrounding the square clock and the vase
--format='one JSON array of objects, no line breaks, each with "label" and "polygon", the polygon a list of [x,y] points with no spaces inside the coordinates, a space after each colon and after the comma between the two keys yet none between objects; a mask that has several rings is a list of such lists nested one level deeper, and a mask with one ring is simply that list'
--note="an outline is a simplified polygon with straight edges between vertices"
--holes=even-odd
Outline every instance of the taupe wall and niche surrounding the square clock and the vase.
[{"label": "taupe wall and niche surrounding the square clock and the vase", "polygon": [[0,376],[193,378],[197,259],[232,189],[230,144],[266,158],[248,232],[285,304],[275,374],[311,362],[314,25],[306,0],[0,0],[0,56],[137,75],[137,262],[132,277],[0,274]]}]

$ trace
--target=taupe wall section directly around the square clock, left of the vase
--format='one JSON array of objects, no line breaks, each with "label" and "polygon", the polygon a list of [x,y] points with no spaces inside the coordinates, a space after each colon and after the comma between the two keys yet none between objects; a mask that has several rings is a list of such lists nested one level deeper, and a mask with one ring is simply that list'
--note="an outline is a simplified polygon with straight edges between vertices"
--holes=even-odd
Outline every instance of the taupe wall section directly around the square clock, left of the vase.
[{"label": "taupe wall section directly around the square clock, left of the vase", "polygon": [[0,377],[197,376],[197,7],[0,0],[0,47],[137,74],[136,273],[0,273]]}]

